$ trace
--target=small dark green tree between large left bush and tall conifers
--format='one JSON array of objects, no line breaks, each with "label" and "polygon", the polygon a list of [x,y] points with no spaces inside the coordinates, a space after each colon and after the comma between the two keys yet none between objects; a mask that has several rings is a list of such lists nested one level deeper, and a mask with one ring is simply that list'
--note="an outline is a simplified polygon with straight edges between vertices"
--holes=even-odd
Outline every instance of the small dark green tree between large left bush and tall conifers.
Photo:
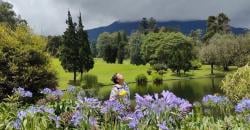
[{"label": "small dark green tree between large left bush and tall conifers", "polygon": [[50,53],[50,55],[58,57],[60,52],[59,48],[62,45],[62,42],[62,36],[48,36],[46,50]]}]

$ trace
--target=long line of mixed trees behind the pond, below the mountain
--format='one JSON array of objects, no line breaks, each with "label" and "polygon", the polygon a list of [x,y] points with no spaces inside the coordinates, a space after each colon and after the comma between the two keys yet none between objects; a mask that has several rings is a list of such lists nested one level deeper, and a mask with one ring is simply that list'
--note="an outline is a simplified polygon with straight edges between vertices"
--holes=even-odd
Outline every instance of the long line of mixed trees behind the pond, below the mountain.
[{"label": "long line of mixed trees behind the pond, below the mountain", "polygon": [[209,16],[204,35],[198,29],[185,36],[178,29],[158,27],[152,17],[142,18],[138,30],[126,36],[122,49],[125,53],[118,53],[120,32],[100,34],[95,52],[107,63],[115,63],[122,57],[135,65],[162,64],[178,75],[181,71],[197,69],[202,63],[211,65],[211,74],[215,66],[227,71],[230,65],[245,65],[250,54],[249,35],[233,35],[229,22],[224,13]]}]

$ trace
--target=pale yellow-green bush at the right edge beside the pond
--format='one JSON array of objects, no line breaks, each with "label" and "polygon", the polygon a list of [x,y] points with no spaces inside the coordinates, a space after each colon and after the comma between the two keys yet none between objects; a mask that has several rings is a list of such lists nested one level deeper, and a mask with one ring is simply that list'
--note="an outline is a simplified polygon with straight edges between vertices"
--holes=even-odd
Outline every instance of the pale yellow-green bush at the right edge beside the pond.
[{"label": "pale yellow-green bush at the right edge beside the pond", "polygon": [[239,68],[232,74],[227,74],[222,81],[221,89],[232,101],[250,98],[250,67]]}]

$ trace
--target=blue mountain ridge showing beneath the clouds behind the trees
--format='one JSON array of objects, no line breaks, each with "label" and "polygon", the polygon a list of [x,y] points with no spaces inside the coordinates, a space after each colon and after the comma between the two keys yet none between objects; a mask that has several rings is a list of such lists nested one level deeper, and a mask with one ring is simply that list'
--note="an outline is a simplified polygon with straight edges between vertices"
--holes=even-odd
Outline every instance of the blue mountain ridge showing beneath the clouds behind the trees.
[{"label": "blue mountain ridge showing beneath the clouds behind the trees", "polygon": [[[87,30],[89,39],[91,41],[96,40],[99,34],[103,32],[115,32],[123,30],[127,34],[131,34],[136,31],[139,26],[140,21],[114,21],[110,25],[97,27]],[[168,27],[177,28],[180,32],[188,35],[192,30],[201,29],[204,33],[206,30],[207,22],[206,20],[170,20],[170,21],[157,21],[157,27]],[[241,27],[230,26],[234,34],[244,34],[249,29]]]}]

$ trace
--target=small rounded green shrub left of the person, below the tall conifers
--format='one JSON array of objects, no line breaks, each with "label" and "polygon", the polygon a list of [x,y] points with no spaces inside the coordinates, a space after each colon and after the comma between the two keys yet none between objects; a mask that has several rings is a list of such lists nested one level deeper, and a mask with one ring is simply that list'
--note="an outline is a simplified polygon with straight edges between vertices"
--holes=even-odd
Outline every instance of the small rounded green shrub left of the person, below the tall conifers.
[{"label": "small rounded green shrub left of the person, below the tall conifers", "polygon": [[97,76],[92,74],[85,74],[82,80],[84,89],[96,87],[98,83]]}]

